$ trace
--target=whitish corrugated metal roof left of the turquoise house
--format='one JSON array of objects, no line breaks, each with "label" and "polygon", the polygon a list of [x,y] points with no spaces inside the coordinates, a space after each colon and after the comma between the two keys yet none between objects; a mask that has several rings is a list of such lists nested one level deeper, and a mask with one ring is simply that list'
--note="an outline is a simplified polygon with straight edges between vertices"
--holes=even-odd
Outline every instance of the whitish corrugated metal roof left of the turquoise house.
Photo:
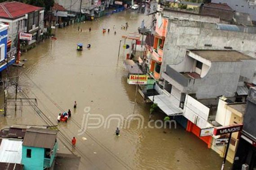
[{"label": "whitish corrugated metal roof left of the turquoise house", "polygon": [[22,161],[22,140],[2,139],[0,145],[0,162],[17,163]]}]

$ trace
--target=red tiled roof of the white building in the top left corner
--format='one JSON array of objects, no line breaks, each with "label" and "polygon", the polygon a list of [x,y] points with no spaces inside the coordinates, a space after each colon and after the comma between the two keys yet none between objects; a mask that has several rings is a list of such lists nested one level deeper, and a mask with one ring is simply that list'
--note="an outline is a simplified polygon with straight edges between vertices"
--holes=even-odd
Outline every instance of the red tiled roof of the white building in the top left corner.
[{"label": "red tiled roof of the white building in the top left corner", "polygon": [[15,19],[25,15],[26,13],[31,13],[41,9],[43,8],[16,1],[3,2],[0,3],[0,18]]}]

